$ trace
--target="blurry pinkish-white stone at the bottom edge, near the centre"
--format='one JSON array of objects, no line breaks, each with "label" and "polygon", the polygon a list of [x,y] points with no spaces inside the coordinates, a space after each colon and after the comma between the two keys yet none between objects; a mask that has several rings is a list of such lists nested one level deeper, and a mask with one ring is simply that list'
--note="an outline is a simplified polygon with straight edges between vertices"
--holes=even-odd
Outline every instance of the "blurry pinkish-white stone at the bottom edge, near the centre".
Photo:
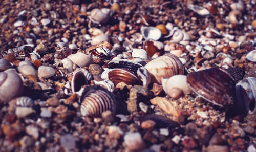
[{"label": "blurry pinkish-white stone at the bottom edge, near the centre", "polygon": [[127,133],[124,136],[124,143],[129,150],[139,151],[145,148],[145,143],[140,133]]}]

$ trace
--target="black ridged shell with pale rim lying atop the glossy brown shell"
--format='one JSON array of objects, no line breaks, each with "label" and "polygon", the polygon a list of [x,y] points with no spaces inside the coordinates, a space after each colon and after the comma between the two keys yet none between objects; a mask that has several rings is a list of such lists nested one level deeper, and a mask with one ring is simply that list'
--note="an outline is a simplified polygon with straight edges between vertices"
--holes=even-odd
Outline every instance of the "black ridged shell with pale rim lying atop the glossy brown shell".
[{"label": "black ridged shell with pale rim lying atop the glossy brown shell", "polygon": [[125,69],[131,71],[133,74],[136,75],[137,70],[140,67],[143,67],[140,63],[134,62],[132,60],[127,60],[127,59],[118,59],[114,61],[109,62],[109,67],[111,69],[114,68],[120,68],[120,69]]}]

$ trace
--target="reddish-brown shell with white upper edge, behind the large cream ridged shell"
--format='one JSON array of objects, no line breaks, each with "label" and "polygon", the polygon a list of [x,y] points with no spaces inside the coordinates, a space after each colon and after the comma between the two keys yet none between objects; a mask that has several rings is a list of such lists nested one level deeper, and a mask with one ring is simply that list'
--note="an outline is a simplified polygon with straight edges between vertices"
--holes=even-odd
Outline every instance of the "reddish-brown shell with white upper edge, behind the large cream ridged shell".
[{"label": "reddish-brown shell with white upper edge, behind the large cream ridged shell", "polygon": [[159,53],[160,55],[164,53],[163,43],[153,39],[148,39],[144,42],[144,49],[146,50],[149,58],[152,58],[155,53]]}]

